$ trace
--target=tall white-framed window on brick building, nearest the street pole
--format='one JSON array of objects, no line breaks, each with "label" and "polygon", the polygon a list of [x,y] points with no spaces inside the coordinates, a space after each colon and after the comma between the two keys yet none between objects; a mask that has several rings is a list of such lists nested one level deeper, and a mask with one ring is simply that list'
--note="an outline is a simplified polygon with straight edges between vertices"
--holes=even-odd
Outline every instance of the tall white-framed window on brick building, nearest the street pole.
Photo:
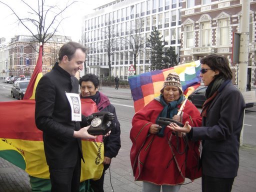
[{"label": "tall white-framed window on brick building, nearest the street pole", "polygon": [[219,28],[219,45],[229,44],[228,19],[218,20]]}]

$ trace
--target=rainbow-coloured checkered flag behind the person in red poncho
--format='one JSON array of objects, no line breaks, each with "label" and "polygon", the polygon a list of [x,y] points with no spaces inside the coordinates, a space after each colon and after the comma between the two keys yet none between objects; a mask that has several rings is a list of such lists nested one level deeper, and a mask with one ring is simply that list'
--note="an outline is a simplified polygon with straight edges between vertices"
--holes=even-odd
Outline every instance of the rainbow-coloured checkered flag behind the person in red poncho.
[{"label": "rainbow-coloured checkered flag behind the person in red poncho", "polygon": [[179,75],[183,93],[188,96],[200,85],[200,61],[176,65],[162,70],[154,70],[128,77],[135,112],[145,106],[154,97],[159,96],[167,75],[176,72]]}]

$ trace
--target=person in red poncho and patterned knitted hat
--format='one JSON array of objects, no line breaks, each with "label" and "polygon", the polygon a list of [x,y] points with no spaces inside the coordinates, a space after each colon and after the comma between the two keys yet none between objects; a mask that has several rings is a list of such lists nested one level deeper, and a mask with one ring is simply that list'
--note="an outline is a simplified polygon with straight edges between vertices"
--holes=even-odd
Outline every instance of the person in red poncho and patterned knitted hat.
[{"label": "person in red poncho and patterned knitted hat", "polygon": [[176,73],[166,77],[161,94],[135,113],[132,119],[130,160],[135,180],[143,181],[142,191],[178,191],[185,177],[200,176],[198,170],[199,141],[187,141],[182,133],[174,133],[156,123],[159,117],[171,118],[193,126],[201,125],[197,108],[185,101]]}]

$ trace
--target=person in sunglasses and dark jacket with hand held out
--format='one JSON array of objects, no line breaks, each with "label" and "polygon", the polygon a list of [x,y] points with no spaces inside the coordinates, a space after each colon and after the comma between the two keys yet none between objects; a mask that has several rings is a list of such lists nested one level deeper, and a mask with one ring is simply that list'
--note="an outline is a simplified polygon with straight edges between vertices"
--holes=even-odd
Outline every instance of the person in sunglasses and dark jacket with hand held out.
[{"label": "person in sunglasses and dark jacket with hand held out", "polygon": [[190,140],[202,140],[201,168],[203,192],[231,191],[239,165],[239,138],[243,123],[244,99],[232,84],[226,57],[216,54],[200,60],[200,76],[207,86],[202,106],[202,126],[169,128],[186,132]]}]

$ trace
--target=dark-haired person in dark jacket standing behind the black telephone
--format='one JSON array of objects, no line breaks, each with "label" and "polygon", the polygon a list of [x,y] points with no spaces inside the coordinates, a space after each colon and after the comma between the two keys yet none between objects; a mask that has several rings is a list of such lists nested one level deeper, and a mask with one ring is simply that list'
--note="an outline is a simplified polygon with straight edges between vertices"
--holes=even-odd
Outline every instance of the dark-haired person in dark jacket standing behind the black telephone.
[{"label": "dark-haired person in dark jacket standing behind the black telephone", "polygon": [[[118,78],[118,77],[117,77]],[[104,174],[111,163],[111,159],[115,157],[121,147],[120,141],[120,123],[117,119],[114,106],[110,103],[106,95],[98,91],[99,80],[95,74],[85,74],[79,79],[80,97],[91,98],[97,105],[99,111],[108,111],[114,114],[112,120],[111,134],[104,138],[104,169],[98,180],[90,179],[90,186],[94,192],[103,192]]]}]

